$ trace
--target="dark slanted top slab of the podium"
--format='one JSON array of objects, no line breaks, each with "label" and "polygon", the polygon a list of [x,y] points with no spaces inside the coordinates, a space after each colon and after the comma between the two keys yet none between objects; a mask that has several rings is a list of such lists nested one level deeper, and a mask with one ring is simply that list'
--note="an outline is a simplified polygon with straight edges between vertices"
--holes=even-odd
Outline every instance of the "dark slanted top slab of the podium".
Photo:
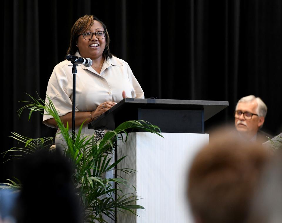
[{"label": "dark slanted top slab of the podium", "polygon": [[[228,101],[201,101],[201,100],[174,100],[174,99],[151,99],[151,98],[124,98],[113,108],[100,115],[88,128],[101,126],[106,120],[120,120],[122,122],[137,119],[132,116],[131,111],[141,109],[169,109],[169,110],[203,110],[204,121],[208,120],[216,113],[228,107]],[[121,118],[121,116],[124,116]],[[126,120],[126,118],[129,118]]]}]

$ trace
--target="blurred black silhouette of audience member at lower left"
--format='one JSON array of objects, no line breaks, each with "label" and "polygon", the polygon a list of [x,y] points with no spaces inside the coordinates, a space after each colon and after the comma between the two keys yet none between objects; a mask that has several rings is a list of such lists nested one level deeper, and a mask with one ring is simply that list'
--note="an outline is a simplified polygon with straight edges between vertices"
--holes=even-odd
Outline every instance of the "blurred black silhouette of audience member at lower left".
[{"label": "blurred black silhouette of audience member at lower left", "polygon": [[61,152],[37,151],[21,159],[18,170],[22,189],[14,210],[17,223],[81,222],[73,168]]}]

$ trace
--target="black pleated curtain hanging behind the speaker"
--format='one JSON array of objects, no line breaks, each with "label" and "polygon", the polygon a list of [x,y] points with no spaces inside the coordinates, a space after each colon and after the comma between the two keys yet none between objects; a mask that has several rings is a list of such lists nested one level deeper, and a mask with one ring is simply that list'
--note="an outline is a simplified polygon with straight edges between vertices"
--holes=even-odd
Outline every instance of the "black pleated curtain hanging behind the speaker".
[{"label": "black pleated curtain hanging behind the speaker", "polygon": [[[229,101],[206,122],[233,122],[239,98],[254,94],[268,106],[263,129],[282,130],[281,0],[4,1],[2,9],[1,151],[16,146],[8,137],[53,136],[42,115],[16,111],[29,99],[45,98],[53,67],[64,60],[70,29],[85,14],[107,26],[111,52],[127,61],[145,97]],[[5,161],[2,158],[1,161]],[[1,164],[1,178],[14,174]]]}]

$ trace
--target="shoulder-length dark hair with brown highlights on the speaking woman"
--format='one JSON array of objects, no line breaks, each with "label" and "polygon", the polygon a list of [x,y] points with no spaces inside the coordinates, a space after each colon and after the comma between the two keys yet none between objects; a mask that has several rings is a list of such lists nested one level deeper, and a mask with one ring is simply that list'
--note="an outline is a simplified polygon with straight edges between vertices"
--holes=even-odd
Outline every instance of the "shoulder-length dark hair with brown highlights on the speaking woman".
[{"label": "shoulder-length dark hair with brown highlights on the speaking woman", "polygon": [[67,54],[70,55],[74,55],[75,52],[78,50],[77,46],[76,46],[76,41],[78,39],[78,35],[85,32],[85,30],[88,30],[94,23],[94,20],[98,21],[99,23],[101,23],[101,25],[103,26],[104,30],[105,30],[105,38],[106,38],[106,46],[105,46],[105,50],[103,52],[103,56],[105,57],[106,60],[108,60],[108,58],[112,58],[112,54],[110,53],[110,36],[107,30],[106,25],[100,21],[97,17],[95,16],[89,16],[89,15],[85,15],[83,17],[80,17],[73,25],[73,27],[70,30],[70,46],[68,48],[68,52]]}]

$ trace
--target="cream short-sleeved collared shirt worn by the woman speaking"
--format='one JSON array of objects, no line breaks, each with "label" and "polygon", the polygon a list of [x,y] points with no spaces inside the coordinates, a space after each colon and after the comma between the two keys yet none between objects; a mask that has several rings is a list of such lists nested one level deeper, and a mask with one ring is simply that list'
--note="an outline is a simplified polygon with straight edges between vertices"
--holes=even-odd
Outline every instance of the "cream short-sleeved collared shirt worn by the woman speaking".
[{"label": "cream short-sleeved collared shirt worn by the woman speaking", "polygon": [[[75,55],[80,57],[78,52]],[[60,116],[72,112],[72,88],[72,63],[65,60],[55,66],[46,92]],[[123,90],[127,97],[144,98],[140,84],[124,60],[114,56],[112,59],[105,60],[100,74],[92,67],[77,65],[75,111],[94,111],[98,105],[105,101],[119,102],[122,100]],[[47,97],[46,102],[48,102]],[[47,114],[43,115],[43,121],[49,118],[53,117]],[[76,132],[78,129],[79,127],[76,128]],[[86,136],[92,135],[94,132],[95,130],[90,130],[88,125],[85,125],[82,134],[84,133]],[[57,135],[57,137],[62,136]],[[56,139],[57,143],[61,144],[62,141],[59,142]]]}]

